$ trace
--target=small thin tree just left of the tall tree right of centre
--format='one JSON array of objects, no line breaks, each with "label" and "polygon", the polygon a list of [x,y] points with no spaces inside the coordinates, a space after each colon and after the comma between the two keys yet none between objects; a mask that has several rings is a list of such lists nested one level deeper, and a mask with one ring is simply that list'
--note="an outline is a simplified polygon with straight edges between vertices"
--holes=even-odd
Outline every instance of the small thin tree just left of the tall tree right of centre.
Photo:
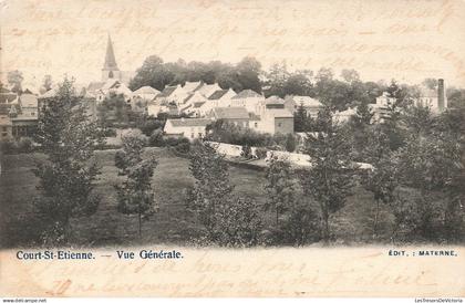
[{"label": "small thin tree just left of the tall tree right of centre", "polygon": [[279,216],[291,208],[296,200],[294,178],[290,163],[272,156],[268,160],[266,179],[265,189],[268,200],[264,206],[266,210],[275,210],[278,226]]}]

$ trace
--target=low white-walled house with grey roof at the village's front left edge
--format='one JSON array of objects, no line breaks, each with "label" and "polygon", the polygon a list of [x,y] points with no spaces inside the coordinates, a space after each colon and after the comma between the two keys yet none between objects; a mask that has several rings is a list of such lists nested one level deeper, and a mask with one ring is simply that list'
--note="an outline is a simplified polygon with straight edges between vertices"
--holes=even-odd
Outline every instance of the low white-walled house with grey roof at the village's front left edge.
[{"label": "low white-walled house with grey roof at the village's front left edge", "polygon": [[167,136],[185,137],[189,140],[202,139],[207,134],[207,125],[211,122],[208,118],[168,118],[163,132]]}]

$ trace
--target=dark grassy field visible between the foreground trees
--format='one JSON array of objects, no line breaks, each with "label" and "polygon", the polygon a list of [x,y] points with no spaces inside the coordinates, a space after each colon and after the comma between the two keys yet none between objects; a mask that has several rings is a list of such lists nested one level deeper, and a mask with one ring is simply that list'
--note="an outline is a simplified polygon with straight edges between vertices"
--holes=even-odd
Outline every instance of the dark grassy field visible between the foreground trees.
[{"label": "dark grassy field visible between the foreground trees", "polygon": [[[137,217],[116,211],[114,185],[122,179],[114,167],[114,150],[96,153],[102,166],[102,175],[96,192],[102,200],[96,213],[74,218],[71,222],[70,239],[75,247],[121,245],[138,243],[188,244],[202,231],[196,216],[187,210],[184,189],[193,185],[188,160],[176,157],[167,149],[151,148],[158,158],[153,178],[153,187],[158,197],[159,211],[143,223],[143,237],[137,236]],[[34,159],[40,155],[20,154],[2,158],[0,175],[0,241],[1,247],[35,245],[41,220],[33,213],[32,201],[37,197],[37,178],[31,173]],[[247,168],[230,167],[230,178],[235,190],[241,196],[254,197],[264,203],[265,174]],[[332,230],[339,243],[360,243],[371,240],[374,203],[369,192],[354,188],[354,195],[332,220]],[[265,229],[273,227],[273,213],[264,212]],[[392,216],[381,213],[380,230],[389,238]]]}]

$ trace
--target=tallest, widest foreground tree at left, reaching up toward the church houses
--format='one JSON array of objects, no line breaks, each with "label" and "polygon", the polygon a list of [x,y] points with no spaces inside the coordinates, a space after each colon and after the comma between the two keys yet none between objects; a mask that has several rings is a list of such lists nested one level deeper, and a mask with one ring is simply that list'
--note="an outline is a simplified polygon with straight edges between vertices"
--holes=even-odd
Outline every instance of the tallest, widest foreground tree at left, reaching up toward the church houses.
[{"label": "tallest, widest foreground tree at left, reaching up toward the church houses", "polygon": [[43,241],[59,244],[68,240],[71,217],[90,216],[97,209],[94,188],[100,169],[92,157],[103,137],[68,79],[56,96],[46,100],[42,113],[35,142],[46,160],[38,161],[33,170],[40,190],[34,207],[48,223]]}]

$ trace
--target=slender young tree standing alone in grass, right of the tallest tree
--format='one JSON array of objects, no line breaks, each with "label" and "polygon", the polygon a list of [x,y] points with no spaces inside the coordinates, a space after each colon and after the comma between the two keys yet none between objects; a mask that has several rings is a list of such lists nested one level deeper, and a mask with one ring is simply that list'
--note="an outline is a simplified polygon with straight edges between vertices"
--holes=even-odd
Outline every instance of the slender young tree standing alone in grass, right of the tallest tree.
[{"label": "slender young tree standing alone in grass, right of the tallest tree", "polygon": [[115,166],[120,175],[126,176],[122,185],[116,185],[117,210],[122,213],[137,213],[138,236],[142,237],[142,219],[156,212],[152,177],[157,161],[153,156],[143,158],[145,139],[136,134],[122,137],[123,149],[115,155]]}]

